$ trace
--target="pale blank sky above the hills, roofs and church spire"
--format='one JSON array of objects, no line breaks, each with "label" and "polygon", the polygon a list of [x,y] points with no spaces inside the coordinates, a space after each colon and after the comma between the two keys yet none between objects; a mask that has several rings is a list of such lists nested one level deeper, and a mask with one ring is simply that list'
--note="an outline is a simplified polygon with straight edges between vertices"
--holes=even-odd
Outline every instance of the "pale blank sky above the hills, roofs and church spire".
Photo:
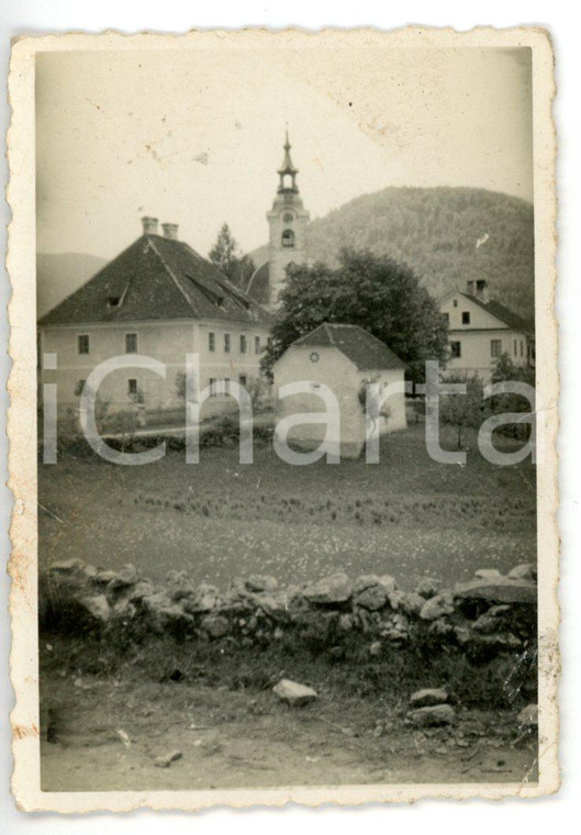
[{"label": "pale blank sky above the hills, roofs and church spire", "polygon": [[268,240],[288,124],[311,218],[388,186],[533,199],[526,48],[53,52],[36,56],[36,241],[111,258],[141,216],[208,255]]}]

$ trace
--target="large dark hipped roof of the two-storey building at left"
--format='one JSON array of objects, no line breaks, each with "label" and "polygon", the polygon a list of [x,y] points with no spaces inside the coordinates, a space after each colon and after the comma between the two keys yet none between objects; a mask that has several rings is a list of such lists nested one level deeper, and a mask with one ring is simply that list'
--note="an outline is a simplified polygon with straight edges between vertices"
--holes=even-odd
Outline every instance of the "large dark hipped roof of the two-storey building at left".
[{"label": "large dark hipped roof of the two-storey building at left", "polygon": [[259,304],[191,246],[146,234],[46,313],[40,324],[159,319],[270,321]]}]

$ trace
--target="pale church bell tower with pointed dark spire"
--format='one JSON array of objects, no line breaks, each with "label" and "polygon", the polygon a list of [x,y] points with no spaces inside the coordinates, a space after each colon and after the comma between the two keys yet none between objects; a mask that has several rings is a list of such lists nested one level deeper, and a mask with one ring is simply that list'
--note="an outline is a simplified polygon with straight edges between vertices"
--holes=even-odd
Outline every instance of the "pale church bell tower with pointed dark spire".
[{"label": "pale church bell tower with pointed dark spire", "polygon": [[279,187],[272,209],[267,213],[270,226],[268,245],[270,309],[277,307],[279,292],[289,264],[306,263],[306,226],[310,214],[303,207],[297,186],[299,170],[293,166],[289,132],[284,142],[284,156],[278,169]]}]

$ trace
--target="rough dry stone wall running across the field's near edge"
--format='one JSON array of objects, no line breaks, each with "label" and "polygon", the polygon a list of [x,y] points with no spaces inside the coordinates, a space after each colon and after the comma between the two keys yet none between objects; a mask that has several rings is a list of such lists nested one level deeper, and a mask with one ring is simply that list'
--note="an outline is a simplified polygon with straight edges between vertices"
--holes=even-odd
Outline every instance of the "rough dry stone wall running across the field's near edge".
[{"label": "rough dry stone wall running across the field's near edge", "polygon": [[466,653],[471,659],[522,653],[535,646],[536,572],[516,566],[503,576],[482,569],[468,582],[440,589],[432,579],[413,591],[389,575],[351,580],[337,572],[302,586],[279,586],[254,575],[221,590],[169,571],[164,583],[133,565],[105,570],[69,559],[53,563],[40,581],[41,627],[52,632],[125,635],[170,634],[176,639],[250,647],[283,638],[325,642],[337,659],[357,639],[364,655],[418,643]]}]

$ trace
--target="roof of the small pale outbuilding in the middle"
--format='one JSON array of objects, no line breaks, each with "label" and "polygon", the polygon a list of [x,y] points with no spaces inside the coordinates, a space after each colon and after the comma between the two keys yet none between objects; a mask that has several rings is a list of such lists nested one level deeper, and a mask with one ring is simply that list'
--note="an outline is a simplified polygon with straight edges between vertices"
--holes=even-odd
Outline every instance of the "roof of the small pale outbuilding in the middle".
[{"label": "roof of the small pale outbuilding in the middle", "polygon": [[314,331],[293,342],[291,347],[337,348],[359,371],[406,368],[405,363],[391,348],[358,325],[323,322]]}]

